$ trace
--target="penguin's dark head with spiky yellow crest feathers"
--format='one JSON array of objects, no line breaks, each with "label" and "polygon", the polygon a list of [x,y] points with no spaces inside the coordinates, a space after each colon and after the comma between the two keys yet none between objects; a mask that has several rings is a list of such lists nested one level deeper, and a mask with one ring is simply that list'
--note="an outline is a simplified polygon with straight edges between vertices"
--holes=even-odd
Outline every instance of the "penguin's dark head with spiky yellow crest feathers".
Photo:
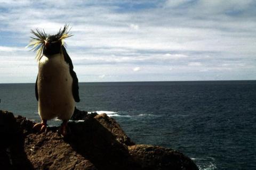
[{"label": "penguin's dark head with spiky yellow crest feathers", "polygon": [[69,34],[69,31],[70,29],[67,24],[65,24],[63,29],[60,28],[59,32],[55,35],[47,34],[44,30],[31,30],[31,33],[36,37],[30,37],[31,40],[28,46],[33,46],[32,49],[36,51],[36,60],[39,61],[43,55],[51,57],[54,54],[61,53],[61,48],[66,46],[64,39],[73,36]]}]

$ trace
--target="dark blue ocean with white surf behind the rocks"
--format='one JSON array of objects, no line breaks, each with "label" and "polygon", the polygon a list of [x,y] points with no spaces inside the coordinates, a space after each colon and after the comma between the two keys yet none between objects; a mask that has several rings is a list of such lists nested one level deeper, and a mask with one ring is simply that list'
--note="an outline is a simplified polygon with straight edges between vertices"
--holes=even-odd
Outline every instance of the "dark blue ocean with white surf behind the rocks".
[{"label": "dark blue ocean with white surf behind the rocks", "polygon": [[[0,109],[39,121],[34,86],[0,84]],[[107,113],[137,144],[179,150],[199,169],[256,169],[256,81],[92,82],[79,88],[78,109]]]}]

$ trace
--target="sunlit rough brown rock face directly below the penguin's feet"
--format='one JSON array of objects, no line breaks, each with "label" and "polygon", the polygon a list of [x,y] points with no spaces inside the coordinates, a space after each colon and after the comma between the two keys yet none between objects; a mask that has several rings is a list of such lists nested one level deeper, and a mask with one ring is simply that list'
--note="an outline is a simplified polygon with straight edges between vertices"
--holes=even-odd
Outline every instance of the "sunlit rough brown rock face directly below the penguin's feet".
[{"label": "sunlit rough brown rock face directly below the penguin's feet", "polygon": [[25,152],[35,169],[97,169],[55,132],[29,134]]}]

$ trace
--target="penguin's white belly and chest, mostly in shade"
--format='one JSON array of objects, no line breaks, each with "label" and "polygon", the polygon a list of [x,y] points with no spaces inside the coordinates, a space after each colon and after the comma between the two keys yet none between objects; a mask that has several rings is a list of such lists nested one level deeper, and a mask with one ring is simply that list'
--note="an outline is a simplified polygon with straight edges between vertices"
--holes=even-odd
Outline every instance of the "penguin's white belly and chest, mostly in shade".
[{"label": "penguin's white belly and chest, mostly in shade", "polygon": [[42,120],[69,120],[74,113],[73,79],[61,54],[43,56],[38,65],[38,113]]}]

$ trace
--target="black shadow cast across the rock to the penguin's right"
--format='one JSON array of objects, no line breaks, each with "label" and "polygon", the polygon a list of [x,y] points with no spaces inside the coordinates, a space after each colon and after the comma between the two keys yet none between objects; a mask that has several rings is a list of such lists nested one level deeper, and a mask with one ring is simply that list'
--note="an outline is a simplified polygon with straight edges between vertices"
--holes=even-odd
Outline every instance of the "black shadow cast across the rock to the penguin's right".
[{"label": "black shadow cast across the rock to the penguin's right", "polygon": [[90,160],[98,169],[139,169],[122,141],[122,135],[113,135],[99,120],[111,121],[98,115],[84,122],[69,123],[71,135],[65,138],[78,154]]}]

